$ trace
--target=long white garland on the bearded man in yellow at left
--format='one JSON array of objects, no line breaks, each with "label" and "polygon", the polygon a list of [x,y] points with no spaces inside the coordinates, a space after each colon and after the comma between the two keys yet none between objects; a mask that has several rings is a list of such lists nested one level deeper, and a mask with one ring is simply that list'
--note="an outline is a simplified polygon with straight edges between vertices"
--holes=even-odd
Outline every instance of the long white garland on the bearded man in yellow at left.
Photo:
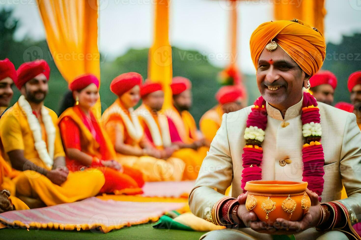
[{"label": "long white garland on the bearded man in yellow at left", "polygon": [[32,113],[30,104],[23,95],[20,96],[18,103],[26,114],[27,122],[29,123],[30,130],[32,131],[32,136],[34,137],[35,142],[35,149],[36,151],[38,151],[39,158],[44,162],[46,166],[51,168],[54,164],[54,144],[56,129],[54,127],[53,120],[49,115],[48,109],[42,106],[41,115],[47,135],[49,151],[47,150],[47,145],[42,138],[42,129],[39,120]]}]

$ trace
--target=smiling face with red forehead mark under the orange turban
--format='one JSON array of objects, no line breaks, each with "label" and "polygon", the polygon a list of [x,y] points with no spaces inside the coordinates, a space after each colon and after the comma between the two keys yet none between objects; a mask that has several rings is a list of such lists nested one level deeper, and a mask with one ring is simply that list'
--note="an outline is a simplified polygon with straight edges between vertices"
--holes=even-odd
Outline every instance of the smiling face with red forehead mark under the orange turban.
[{"label": "smiling face with red forehead mark under the orange turban", "polygon": [[309,77],[280,47],[266,48],[258,62],[257,85],[263,98],[276,108],[287,109],[298,103]]}]

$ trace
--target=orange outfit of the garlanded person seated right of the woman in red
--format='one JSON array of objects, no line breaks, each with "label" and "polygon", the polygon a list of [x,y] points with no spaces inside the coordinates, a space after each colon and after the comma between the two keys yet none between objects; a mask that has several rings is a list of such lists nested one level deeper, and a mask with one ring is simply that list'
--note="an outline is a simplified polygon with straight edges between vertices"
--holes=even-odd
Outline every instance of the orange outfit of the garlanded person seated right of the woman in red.
[{"label": "orange outfit of the garlanded person seated right of the woman in red", "polygon": [[[103,113],[102,122],[105,131],[108,133],[110,140],[115,145],[116,133],[122,132],[123,142],[140,148],[139,142],[141,139],[133,139],[127,131],[127,126],[120,114],[127,114],[130,118],[130,113],[123,107],[121,101],[117,99],[108,109]],[[131,119],[131,118],[130,118]],[[143,137],[143,136],[142,136]],[[136,168],[143,172],[145,181],[180,181],[183,176],[182,160],[177,158],[170,158],[167,160],[157,159],[148,156],[136,157],[124,155],[117,152],[117,160],[119,163],[129,167]]]}]

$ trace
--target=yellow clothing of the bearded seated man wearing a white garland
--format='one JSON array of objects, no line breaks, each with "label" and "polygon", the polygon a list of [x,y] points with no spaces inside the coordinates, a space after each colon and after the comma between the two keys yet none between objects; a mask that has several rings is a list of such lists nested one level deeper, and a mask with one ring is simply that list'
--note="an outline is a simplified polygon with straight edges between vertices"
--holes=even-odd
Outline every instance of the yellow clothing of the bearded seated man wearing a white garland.
[{"label": "yellow clothing of the bearded seated man wearing a white garland", "polygon": [[[57,127],[56,113],[48,109],[56,128],[54,143],[54,159],[64,157],[59,129]],[[44,123],[39,119],[42,136],[47,143]],[[40,159],[34,146],[34,138],[30,130],[25,112],[18,103],[8,109],[0,119],[0,137],[3,145],[3,157],[10,164],[8,153],[12,150],[23,150],[24,157],[36,165],[51,170]],[[53,184],[47,177],[34,171],[20,172],[13,180],[16,185],[16,194],[30,198],[40,198],[46,205],[70,203],[91,196],[95,196],[104,185],[104,175],[98,170],[69,173],[68,179],[61,185]]]}]

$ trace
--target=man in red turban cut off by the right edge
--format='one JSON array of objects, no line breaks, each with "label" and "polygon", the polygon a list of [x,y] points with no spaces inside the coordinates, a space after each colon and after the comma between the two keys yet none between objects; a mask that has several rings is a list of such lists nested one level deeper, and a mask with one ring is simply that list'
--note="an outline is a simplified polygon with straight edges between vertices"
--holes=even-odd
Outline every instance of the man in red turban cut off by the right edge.
[{"label": "man in red turban cut off by the right edge", "polygon": [[353,113],[356,114],[357,124],[361,130],[361,71],[354,72],[349,76],[347,88],[351,92]]}]

